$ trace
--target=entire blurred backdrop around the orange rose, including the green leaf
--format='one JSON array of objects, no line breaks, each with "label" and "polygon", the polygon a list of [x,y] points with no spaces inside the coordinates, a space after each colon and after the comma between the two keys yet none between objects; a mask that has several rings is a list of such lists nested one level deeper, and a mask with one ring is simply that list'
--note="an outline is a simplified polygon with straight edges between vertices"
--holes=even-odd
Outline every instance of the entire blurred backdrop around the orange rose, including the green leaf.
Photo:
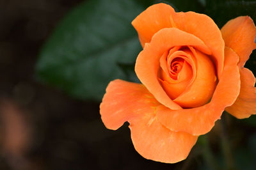
[{"label": "entire blurred backdrop around the orange rose, including the green leaf", "polygon": [[[131,21],[160,1],[0,0],[0,169],[255,169],[256,116],[228,113],[177,164],[146,160],[129,124],[104,127],[109,81],[138,82]],[[170,0],[177,12],[256,21],[256,1]],[[246,67],[256,75],[255,53]]]}]

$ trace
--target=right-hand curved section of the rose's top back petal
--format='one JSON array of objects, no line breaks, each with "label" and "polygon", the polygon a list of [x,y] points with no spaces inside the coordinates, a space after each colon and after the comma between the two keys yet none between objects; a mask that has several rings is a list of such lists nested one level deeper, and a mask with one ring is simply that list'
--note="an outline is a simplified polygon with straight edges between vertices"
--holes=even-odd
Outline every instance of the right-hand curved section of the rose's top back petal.
[{"label": "right-hand curved section of the rose's top back petal", "polygon": [[200,38],[211,49],[212,56],[210,57],[216,65],[218,78],[220,79],[224,63],[225,43],[220,29],[214,21],[204,14],[178,12],[173,15],[173,22],[180,30]]}]

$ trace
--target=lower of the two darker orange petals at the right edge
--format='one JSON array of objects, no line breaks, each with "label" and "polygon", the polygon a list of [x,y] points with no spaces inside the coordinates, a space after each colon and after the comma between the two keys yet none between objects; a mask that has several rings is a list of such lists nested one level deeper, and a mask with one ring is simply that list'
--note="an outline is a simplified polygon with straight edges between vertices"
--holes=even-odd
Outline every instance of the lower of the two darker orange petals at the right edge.
[{"label": "lower of the two darker orange petals at the right edge", "polygon": [[236,118],[248,118],[251,114],[256,114],[256,88],[255,77],[247,68],[240,70],[241,90],[236,102],[225,110]]}]

